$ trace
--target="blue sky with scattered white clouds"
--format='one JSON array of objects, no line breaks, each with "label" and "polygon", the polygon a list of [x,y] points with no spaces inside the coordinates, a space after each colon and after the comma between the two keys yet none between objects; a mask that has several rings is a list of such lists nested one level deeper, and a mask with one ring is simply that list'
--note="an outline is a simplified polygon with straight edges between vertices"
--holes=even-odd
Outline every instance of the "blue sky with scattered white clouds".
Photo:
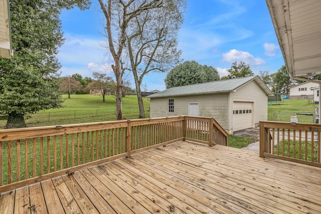
[{"label": "blue sky with scattered white clouds", "polygon": [[[92,2],[90,10],[76,8],[61,14],[66,39],[58,54],[62,76],[110,72],[112,57],[101,47],[105,38],[100,34],[100,6]],[[212,66],[220,76],[226,76],[235,61],[249,64],[255,74],[272,74],[284,65],[265,1],[188,0],[178,40],[184,61]],[[143,84],[149,91],[165,90],[165,77],[166,73],[152,73],[144,77]],[[134,88],[131,75],[125,78]]]}]

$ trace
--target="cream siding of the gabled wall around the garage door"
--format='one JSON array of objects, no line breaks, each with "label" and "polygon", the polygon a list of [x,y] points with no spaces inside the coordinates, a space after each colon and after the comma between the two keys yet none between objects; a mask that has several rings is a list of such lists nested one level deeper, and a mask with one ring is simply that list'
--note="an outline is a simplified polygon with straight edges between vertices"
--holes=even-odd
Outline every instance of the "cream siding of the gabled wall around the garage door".
[{"label": "cream siding of the gabled wall around the garage door", "polygon": [[254,102],[254,124],[260,120],[267,120],[267,96],[263,89],[251,81],[236,92],[230,93],[230,127],[233,127],[233,101]]}]

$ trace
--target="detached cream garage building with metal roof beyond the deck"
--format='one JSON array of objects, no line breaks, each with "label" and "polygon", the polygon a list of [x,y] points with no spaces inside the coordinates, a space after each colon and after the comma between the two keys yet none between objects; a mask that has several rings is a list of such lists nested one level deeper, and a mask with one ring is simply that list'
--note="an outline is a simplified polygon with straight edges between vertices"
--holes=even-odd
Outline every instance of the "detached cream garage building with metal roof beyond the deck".
[{"label": "detached cream garage building with metal roof beyond the deck", "polygon": [[228,133],[257,127],[267,120],[272,92],[258,76],[174,87],[152,94],[150,117],[213,117]]}]

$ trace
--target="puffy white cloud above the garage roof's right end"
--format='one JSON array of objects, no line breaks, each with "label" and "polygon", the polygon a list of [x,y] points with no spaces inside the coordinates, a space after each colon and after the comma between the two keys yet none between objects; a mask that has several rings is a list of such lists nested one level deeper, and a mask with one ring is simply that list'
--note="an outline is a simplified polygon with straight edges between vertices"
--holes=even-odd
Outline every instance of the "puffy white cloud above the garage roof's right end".
[{"label": "puffy white cloud above the garage roof's right end", "polygon": [[265,62],[261,58],[254,58],[249,52],[238,51],[235,49],[230,50],[229,52],[222,55],[225,62],[233,63],[235,61],[242,61],[251,66],[264,65]]}]

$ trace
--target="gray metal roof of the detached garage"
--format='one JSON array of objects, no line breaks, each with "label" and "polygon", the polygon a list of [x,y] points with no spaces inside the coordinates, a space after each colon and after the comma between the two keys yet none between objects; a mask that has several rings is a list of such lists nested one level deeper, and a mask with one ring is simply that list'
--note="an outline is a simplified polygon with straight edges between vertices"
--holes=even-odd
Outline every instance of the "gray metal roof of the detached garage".
[{"label": "gray metal roof of the detached garage", "polygon": [[149,95],[148,98],[233,92],[252,80],[254,80],[268,96],[273,95],[258,76],[250,76],[169,88],[165,91]]}]

